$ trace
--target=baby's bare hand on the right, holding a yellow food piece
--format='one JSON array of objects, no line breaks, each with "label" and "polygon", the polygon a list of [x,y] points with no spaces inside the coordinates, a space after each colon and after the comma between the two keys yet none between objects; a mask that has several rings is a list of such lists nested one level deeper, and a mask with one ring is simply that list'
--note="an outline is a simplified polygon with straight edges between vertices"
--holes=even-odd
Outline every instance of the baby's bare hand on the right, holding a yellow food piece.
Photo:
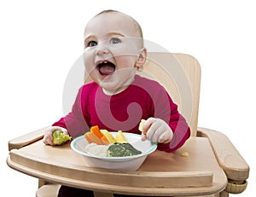
[{"label": "baby's bare hand on the right, holding a yellow food piece", "polygon": [[[171,142],[173,132],[169,125],[162,119],[148,118],[143,124],[142,139],[152,142]],[[146,134],[144,131],[147,131]]]}]

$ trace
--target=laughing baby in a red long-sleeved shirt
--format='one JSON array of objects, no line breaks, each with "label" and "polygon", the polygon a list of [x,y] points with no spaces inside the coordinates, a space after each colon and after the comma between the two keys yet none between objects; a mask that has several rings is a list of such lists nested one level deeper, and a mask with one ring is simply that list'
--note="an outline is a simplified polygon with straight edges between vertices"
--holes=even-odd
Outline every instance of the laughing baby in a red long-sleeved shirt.
[{"label": "laughing baby in a red long-sleeved shirt", "polygon": [[[54,145],[52,133],[83,135],[92,125],[142,135],[172,152],[183,146],[190,130],[164,87],[137,75],[147,59],[143,32],[127,14],[105,10],[84,30],[84,66],[93,82],[84,84],[71,113],[45,132],[44,143]],[[142,132],[141,119],[146,119]],[[164,165],[164,164],[163,164]],[[61,186],[59,196],[93,196],[91,191]],[[114,196],[121,196],[114,194]]]}]

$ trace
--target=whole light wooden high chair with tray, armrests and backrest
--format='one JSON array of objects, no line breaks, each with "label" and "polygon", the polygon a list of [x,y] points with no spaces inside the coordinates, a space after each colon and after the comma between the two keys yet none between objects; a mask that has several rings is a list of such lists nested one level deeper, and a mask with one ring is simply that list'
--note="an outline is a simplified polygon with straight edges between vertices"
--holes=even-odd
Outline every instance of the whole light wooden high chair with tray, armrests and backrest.
[{"label": "whole light wooden high chair with tray, armrests and backrest", "polygon": [[60,184],[88,188],[96,196],[209,197],[244,191],[249,175],[247,162],[227,136],[197,127],[201,84],[198,61],[185,54],[148,53],[143,72],[138,74],[163,84],[187,119],[192,136],[182,148],[171,154],[155,151],[135,172],[105,171],[87,167],[69,144],[45,146],[44,128],[9,141],[8,165],[38,177],[38,197],[56,196]]}]

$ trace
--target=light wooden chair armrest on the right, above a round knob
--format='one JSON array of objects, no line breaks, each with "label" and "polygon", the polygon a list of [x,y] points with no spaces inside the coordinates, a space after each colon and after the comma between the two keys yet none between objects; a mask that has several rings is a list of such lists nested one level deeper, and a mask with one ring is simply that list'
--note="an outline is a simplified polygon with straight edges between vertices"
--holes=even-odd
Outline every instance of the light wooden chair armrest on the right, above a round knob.
[{"label": "light wooden chair armrest on the right, above a round knob", "polygon": [[223,133],[207,128],[198,128],[197,136],[209,139],[218,164],[224,169],[226,176],[234,181],[243,182],[249,177],[249,165],[230,139]]}]

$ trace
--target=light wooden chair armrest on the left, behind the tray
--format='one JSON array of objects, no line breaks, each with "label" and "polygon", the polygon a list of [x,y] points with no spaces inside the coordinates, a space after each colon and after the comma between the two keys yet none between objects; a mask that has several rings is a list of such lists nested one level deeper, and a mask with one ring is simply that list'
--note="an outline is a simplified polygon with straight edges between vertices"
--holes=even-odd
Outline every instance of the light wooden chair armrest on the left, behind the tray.
[{"label": "light wooden chair armrest on the left, behind the tray", "polygon": [[26,145],[36,142],[44,137],[44,131],[49,128],[44,127],[40,130],[32,131],[24,136],[18,136],[15,139],[12,139],[8,142],[9,151],[12,149],[19,149],[25,147]]}]

